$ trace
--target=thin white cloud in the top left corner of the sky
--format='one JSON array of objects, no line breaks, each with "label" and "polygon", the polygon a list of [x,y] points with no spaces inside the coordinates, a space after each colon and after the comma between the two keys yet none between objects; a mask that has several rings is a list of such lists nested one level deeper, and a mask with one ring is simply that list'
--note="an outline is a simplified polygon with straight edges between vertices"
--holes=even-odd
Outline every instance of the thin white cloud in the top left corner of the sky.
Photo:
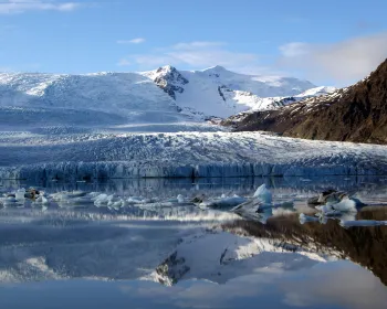
[{"label": "thin white cloud in the top left corner of the sky", "polygon": [[73,11],[80,2],[57,2],[55,0],[0,0],[0,14],[23,13],[25,11]]}]

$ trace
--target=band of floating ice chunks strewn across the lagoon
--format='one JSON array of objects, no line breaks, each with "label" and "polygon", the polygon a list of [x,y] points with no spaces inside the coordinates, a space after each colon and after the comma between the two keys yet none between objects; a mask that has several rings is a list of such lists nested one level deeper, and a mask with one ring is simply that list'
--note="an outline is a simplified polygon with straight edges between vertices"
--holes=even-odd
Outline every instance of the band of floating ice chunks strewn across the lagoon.
[{"label": "band of floating ice chunks strewn across the lagoon", "polygon": [[[191,206],[199,206],[202,210],[212,209],[231,212],[243,219],[263,224],[270,217],[290,215],[296,212],[293,201],[273,203],[273,195],[265,184],[259,187],[251,198],[222,194],[220,198],[208,199],[201,194],[192,199],[178,194],[176,198],[159,200],[155,198],[119,196],[117,194],[84,191],[62,191],[45,195],[43,191],[34,188],[19,189],[13,192],[3,193],[3,198],[0,198],[0,206],[2,207],[23,207],[24,203],[29,203],[33,207],[45,211],[49,209],[51,202],[56,203],[60,207],[94,205],[111,211],[119,211],[125,206],[153,206],[154,203],[161,203],[167,207],[190,204]],[[307,204],[315,209],[317,213],[314,216],[301,213],[299,215],[301,224],[310,222],[326,224],[330,219],[335,219],[341,221],[343,227],[387,225],[387,221],[356,221],[358,210],[365,206],[365,204],[345,192],[328,190],[315,198],[308,199]]]}]

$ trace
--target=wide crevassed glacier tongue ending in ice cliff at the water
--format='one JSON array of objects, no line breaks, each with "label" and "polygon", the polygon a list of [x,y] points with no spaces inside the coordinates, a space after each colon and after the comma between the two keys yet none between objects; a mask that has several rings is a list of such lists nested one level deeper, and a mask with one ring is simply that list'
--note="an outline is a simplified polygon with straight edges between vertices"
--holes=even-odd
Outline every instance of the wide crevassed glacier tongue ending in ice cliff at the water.
[{"label": "wide crevassed glacier tongue ending in ice cliff at the water", "polygon": [[92,180],[386,174],[386,147],[263,132],[0,134],[0,178]]}]

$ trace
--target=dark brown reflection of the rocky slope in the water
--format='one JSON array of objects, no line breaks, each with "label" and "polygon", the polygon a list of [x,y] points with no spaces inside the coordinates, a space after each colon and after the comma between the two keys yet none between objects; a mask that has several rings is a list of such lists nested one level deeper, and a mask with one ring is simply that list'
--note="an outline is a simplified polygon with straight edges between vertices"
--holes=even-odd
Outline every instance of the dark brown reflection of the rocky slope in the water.
[{"label": "dark brown reflection of the rocky slope in the water", "polygon": [[[357,220],[387,219],[387,207],[366,207],[357,214]],[[227,231],[254,237],[282,239],[284,243],[301,247],[315,247],[317,253],[331,251],[341,254],[341,258],[372,270],[387,286],[387,227],[343,228],[338,221],[328,220],[326,224],[310,222],[301,224],[299,215],[292,214],[271,217],[266,224],[252,221],[236,221],[224,224]]]}]

